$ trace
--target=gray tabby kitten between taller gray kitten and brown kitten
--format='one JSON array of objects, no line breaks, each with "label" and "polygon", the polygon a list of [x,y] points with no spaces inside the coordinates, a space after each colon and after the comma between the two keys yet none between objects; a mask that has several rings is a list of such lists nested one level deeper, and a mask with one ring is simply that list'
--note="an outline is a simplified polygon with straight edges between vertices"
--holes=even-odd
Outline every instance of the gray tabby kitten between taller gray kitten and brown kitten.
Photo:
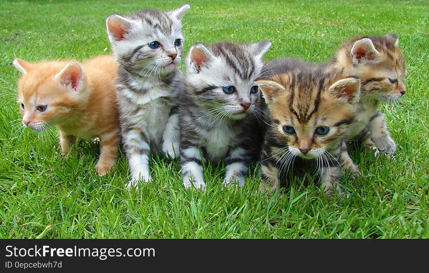
[{"label": "gray tabby kitten between taller gray kitten and brown kitten", "polygon": [[[263,137],[263,100],[254,80],[271,42],[195,43],[180,96],[180,164],[186,189],[204,190],[203,162],[225,160],[224,185],[243,186]],[[201,153],[201,154],[200,154]]]}]

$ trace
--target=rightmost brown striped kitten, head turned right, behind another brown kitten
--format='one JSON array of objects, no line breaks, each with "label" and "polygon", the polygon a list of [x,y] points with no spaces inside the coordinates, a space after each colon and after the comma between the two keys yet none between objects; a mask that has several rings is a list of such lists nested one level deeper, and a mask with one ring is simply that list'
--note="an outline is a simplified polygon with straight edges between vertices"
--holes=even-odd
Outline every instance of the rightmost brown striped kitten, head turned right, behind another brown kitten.
[{"label": "rightmost brown striped kitten, head turned right, behind another brown kitten", "polygon": [[395,34],[356,38],[344,43],[328,65],[361,80],[358,115],[347,139],[359,136],[387,154],[395,153],[396,144],[378,106],[396,102],[406,91],[405,58],[398,44]]}]

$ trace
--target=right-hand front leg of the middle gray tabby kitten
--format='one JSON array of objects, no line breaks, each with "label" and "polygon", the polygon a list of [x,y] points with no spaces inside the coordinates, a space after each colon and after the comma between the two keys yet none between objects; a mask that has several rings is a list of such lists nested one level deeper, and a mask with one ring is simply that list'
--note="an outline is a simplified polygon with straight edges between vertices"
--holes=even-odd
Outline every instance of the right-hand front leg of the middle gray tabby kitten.
[{"label": "right-hand front leg of the middle gray tabby kitten", "polygon": [[244,186],[244,178],[249,173],[247,151],[241,147],[232,150],[230,156],[225,159],[225,168],[224,186],[234,184],[234,182],[238,182],[238,186]]}]

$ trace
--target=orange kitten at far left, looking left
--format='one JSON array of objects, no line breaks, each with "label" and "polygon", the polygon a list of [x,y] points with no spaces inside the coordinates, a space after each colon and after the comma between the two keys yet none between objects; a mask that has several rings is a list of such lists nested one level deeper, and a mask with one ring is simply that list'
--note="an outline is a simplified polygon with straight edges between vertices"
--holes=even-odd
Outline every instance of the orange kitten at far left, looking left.
[{"label": "orange kitten at far left, looking left", "polygon": [[83,63],[75,60],[28,63],[18,58],[13,65],[22,73],[18,103],[24,126],[36,131],[48,125],[60,133],[66,154],[78,138],[100,140],[96,166],[99,176],[115,165],[119,143],[113,56],[98,56]]}]

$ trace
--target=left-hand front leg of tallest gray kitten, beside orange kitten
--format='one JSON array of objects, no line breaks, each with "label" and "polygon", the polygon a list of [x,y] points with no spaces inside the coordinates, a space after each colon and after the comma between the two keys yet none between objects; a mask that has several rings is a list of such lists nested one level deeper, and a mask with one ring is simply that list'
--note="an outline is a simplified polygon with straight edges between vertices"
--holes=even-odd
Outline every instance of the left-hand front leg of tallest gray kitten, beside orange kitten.
[{"label": "left-hand front leg of tallest gray kitten, beside orange kitten", "polygon": [[126,185],[126,188],[136,187],[137,189],[139,181],[151,181],[149,138],[140,129],[122,132],[122,137],[131,173],[131,180]]}]

